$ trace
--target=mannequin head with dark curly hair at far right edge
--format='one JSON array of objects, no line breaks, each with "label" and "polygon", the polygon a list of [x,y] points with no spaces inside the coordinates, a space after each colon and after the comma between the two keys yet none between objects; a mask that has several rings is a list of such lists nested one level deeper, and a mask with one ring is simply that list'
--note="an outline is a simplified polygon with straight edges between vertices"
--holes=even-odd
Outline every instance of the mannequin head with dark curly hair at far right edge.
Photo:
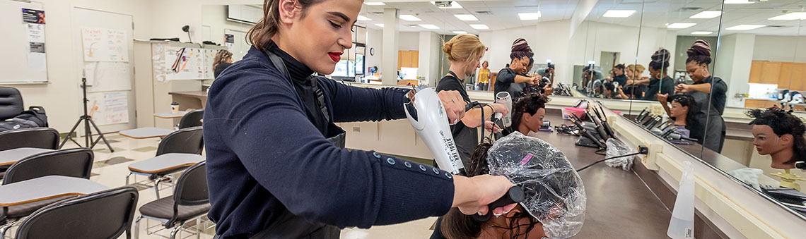
[{"label": "mannequin head with dark curly hair at far right edge", "polygon": [[750,122],[753,145],[759,155],[772,157],[771,167],[795,168],[798,160],[806,159],[806,126],[800,118],[779,108],[751,109],[746,114],[755,118]]}]

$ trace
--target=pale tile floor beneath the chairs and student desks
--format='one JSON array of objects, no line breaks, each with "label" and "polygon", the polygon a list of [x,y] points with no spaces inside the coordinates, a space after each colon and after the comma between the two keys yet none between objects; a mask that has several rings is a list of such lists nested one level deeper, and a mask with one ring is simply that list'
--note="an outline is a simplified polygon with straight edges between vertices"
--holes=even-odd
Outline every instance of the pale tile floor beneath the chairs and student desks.
[{"label": "pale tile floor beneath the chairs and student desks", "polygon": [[[132,139],[121,136],[117,133],[106,134],[106,138],[110,141],[110,145],[114,152],[110,152],[106,145],[99,143],[93,149],[95,154],[95,163],[93,163],[92,175],[90,180],[101,183],[107,187],[123,187],[126,184],[126,175],[128,174],[128,165],[144,159],[150,159],[156,154],[156,146],[159,144],[159,138],[151,139]],[[83,138],[77,140],[84,142]],[[73,142],[69,142],[64,146],[65,149],[77,147]],[[132,175],[131,183],[147,179],[141,175]],[[178,175],[177,175],[178,177]],[[153,185],[149,183],[148,185]],[[145,187],[144,185],[134,184],[139,189],[139,200],[137,202],[137,210],[135,219],[139,216],[139,207],[147,204],[152,200],[156,200],[156,193],[153,188]],[[171,196],[172,187],[166,187],[160,190],[160,196]],[[436,217],[426,218],[422,220],[414,220],[408,223],[399,225],[386,225],[376,226],[372,229],[344,229],[341,233],[341,238],[344,239],[363,239],[363,238],[428,238],[433,232],[430,228],[434,225]],[[140,221],[139,238],[167,238],[170,233],[169,230],[162,230],[155,234],[148,235],[145,232],[146,220]],[[149,220],[149,226],[158,225],[156,220]],[[195,224],[195,223],[191,223]],[[205,224],[202,224],[206,226]],[[156,227],[153,230],[160,229]],[[12,229],[6,236],[15,235],[15,229]],[[212,238],[214,229],[208,229],[202,233],[201,238]],[[164,236],[164,237],[163,237]],[[177,238],[191,237],[190,233],[180,233]],[[10,238],[10,237],[9,237]],[[126,238],[125,235],[120,238]]]}]

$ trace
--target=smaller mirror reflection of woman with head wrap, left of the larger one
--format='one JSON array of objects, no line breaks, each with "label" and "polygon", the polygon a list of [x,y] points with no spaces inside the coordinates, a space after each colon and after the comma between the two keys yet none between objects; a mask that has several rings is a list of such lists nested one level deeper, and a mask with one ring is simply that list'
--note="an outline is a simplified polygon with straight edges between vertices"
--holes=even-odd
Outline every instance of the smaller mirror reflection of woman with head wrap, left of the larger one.
[{"label": "smaller mirror reflection of woman with head wrap, left of the larger one", "polygon": [[657,95],[668,96],[668,93],[675,91],[674,80],[667,74],[670,58],[671,53],[666,49],[655,51],[650,61],[650,79],[634,80],[634,84],[649,84],[642,100],[658,101]]}]

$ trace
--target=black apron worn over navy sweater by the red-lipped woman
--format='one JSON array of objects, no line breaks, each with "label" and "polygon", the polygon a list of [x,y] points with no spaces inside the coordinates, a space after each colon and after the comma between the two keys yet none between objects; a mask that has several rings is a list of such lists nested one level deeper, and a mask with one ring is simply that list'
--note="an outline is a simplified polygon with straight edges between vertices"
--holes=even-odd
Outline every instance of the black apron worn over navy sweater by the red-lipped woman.
[{"label": "black apron worn over navy sweater by the red-lipped woman", "polygon": [[[264,51],[264,53],[268,56],[268,59],[272,61],[274,67],[280,71],[286,78],[289,80],[289,84],[294,86],[293,82],[291,81],[291,75],[289,74],[288,69],[285,68],[285,63],[280,58],[280,56],[275,55],[272,52]],[[346,139],[346,132],[342,130],[339,126],[336,126],[333,121],[330,119],[330,113],[327,110],[327,105],[325,103],[325,95],[322,92],[322,89],[318,87],[318,82],[316,76],[309,76],[307,80],[311,80],[313,84],[314,92],[317,96],[318,101],[318,108],[321,110],[321,113],[324,114],[324,117],[327,121],[327,130],[325,138],[328,141],[333,142],[334,145],[338,146],[339,148],[344,148],[344,142]],[[294,87],[294,89],[297,89]],[[299,89],[297,89],[299,90]],[[301,97],[299,93],[297,93],[297,97]],[[300,99],[302,101],[302,99]],[[305,101],[302,101],[305,102]],[[303,105],[305,105],[303,103]],[[316,112],[317,109],[310,109],[310,107],[305,106],[305,111],[308,113],[318,113]],[[311,122],[314,122],[314,119],[310,119]],[[322,129],[318,129],[322,132]],[[305,220],[302,216],[294,215],[293,213],[289,212],[288,209],[283,208],[283,212],[280,213],[280,217],[278,217],[275,221],[272,222],[271,225],[268,226],[267,229],[252,235],[251,239],[269,239],[269,238],[310,238],[310,239],[336,239],[339,238],[339,234],[341,231],[339,228],[333,225],[325,225],[319,223],[310,223],[309,221]]]}]

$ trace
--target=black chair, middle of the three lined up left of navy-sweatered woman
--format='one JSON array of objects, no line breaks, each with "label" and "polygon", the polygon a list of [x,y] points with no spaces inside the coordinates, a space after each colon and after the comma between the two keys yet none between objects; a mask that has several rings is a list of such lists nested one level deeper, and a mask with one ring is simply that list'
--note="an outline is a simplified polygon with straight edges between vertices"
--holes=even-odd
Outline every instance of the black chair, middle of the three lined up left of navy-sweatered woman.
[{"label": "black chair, middle of the three lined up left of navy-sweatered woman", "polygon": [[[171,134],[168,134],[168,136],[165,136],[162,141],[160,141],[160,145],[157,146],[156,149],[156,156],[169,153],[202,155],[202,147],[204,146],[204,142],[202,142],[203,135],[204,133],[202,132],[201,126],[173,131]],[[126,185],[129,185],[129,177],[132,174],[147,175],[149,180],[154,181],[154,190],[156,191],[157,198],[160,198],[160,182],[169,179],[169,177],[166,175],[183,171],[190,167],[189,165],[173,165],[171,167],[165,167],[164,170],[159,171],[146,171],[136,167],[137,164],[147,163],[148,160],[159,159],[152,158],[143,160],[139,163],[132,163],[129,166],[129,174],[126,175]]]}]

